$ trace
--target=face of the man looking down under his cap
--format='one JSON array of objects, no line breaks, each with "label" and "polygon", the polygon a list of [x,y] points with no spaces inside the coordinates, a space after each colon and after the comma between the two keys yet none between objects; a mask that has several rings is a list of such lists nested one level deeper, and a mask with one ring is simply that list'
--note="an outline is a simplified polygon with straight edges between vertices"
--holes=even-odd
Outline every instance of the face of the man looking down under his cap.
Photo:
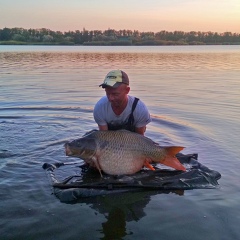
[{"label": "face of the man looking down under his cap", "polygon": [[127,94],[130,91],[130,87],[126,84],[121,84],[117,88],[106,87],[105,92],[109,102],[112,106],[120,107],[127,99]]}]

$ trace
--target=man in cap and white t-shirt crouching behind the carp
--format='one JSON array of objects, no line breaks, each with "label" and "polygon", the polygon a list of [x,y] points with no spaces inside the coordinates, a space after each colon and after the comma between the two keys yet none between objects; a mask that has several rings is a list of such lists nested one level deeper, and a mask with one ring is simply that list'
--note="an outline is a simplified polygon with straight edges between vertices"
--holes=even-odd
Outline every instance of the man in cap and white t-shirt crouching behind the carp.
[{"label": "man in cap and white t-shirt crouching behind the carp", "polygon": [[93,112],[99,130],[127,129],[144,135],[146,125],[151,122],[150,114],[141,100],[128,95],[128,75],[121,70],[113,70],[99,87],[106,92]]}]

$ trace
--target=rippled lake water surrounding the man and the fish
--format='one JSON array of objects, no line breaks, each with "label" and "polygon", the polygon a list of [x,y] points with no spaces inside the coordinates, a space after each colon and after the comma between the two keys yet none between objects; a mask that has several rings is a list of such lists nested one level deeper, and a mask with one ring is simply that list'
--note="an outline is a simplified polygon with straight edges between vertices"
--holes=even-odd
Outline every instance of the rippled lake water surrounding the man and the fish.
[{"label": "rippled lake water surrounding the man and the fish", "polygon": [[[52,194],[42,164],[70,161],[63,143],[97,128],[112,69],[148,106],[146,136],[198,153],[218,188],[76,204]],[[240,239],[240,46],[0,46],[0,92],[0,239]]]}]

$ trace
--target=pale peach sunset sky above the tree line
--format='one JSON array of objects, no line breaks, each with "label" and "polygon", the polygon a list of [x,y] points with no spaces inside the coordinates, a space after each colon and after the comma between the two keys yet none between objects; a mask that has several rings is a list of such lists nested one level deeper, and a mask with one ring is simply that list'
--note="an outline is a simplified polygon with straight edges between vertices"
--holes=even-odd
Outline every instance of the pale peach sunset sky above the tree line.
[{"label": "pale peach sunset sky above the tree line", "polygon": [[240,33],[240,0],[0,0],[0,29]]}]

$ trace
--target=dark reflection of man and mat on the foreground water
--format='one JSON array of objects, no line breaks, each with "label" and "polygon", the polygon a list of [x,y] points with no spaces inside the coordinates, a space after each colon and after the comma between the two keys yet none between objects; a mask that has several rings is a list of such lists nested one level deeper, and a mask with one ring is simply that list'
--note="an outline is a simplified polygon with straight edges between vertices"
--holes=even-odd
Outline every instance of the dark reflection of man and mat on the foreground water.
[{"label": "dark reflection of man and mat on the foreground water", "polygon": [[[159,191],[155,194],[160,193]],[[102,229],[99,230],[104,235],[101,239],[122,239],[132,235],[133,232],[127,229],[127,223],[138,222],[146,216],[144,209],[153,195],[152,192],[138,192],[100,197],[95,199],[95,202],[91,199],[87,204],[106,217],[106,221],[102,223]]]}]

